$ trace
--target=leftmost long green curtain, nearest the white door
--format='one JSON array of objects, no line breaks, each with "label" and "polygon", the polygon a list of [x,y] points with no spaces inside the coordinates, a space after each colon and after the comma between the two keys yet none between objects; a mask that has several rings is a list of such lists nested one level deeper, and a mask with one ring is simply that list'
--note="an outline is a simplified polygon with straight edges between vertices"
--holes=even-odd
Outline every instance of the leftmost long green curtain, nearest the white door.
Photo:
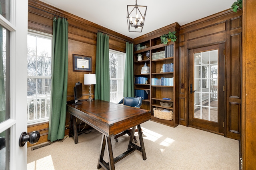
[{"label": "leftmost long green curtain, nearest the white door", "polygon": [[48,140],[64,138],[68,86],[68,21],[54,17],[52,43],[52,113]]}]

